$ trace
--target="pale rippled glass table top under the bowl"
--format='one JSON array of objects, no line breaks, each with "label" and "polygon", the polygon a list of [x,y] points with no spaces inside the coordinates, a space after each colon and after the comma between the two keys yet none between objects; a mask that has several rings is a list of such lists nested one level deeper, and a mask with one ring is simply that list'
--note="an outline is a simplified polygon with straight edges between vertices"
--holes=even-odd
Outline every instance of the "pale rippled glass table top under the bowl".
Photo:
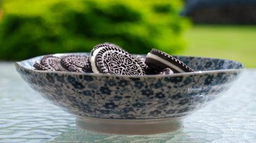
[{"label": "pale rippled glass table top under the bowl", "polygon": [[75,117],[42,98],[0,63],[0,142],[256,142],[256,69],[246,69],[224,95],[164,134],[125,136],[77,128]]}]

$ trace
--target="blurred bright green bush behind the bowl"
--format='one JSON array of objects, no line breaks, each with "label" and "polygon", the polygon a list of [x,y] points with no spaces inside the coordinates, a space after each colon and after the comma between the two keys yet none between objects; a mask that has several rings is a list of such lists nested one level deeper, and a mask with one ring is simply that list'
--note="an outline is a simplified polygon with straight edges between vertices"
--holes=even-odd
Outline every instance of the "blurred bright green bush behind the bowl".
[{"label": "blurred bright green bush behind the bowl", "polygon": [[131,53],[159,48],[182,50],[189,25],[182,0],[12,0],[2,1],[0,59],[89,52],[113,42]]}]

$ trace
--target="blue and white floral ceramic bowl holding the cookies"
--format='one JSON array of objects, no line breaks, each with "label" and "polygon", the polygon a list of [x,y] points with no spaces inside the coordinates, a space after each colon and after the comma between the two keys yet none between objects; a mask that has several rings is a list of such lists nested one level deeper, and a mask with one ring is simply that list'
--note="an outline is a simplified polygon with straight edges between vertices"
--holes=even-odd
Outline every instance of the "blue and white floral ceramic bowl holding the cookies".
[{"label": "blue and white floral ceramic bowl holding the cookies", "polygon": [[[63,55],[89,53],[63,53]],[[76,125],[114,134],[155,134],[180,129],[182,119],[228,90],[244,66],[231,60],[176,56],[197,72],[112,75],[37,71],[43,56],[15,63],[25,82],[76,117]]]}]

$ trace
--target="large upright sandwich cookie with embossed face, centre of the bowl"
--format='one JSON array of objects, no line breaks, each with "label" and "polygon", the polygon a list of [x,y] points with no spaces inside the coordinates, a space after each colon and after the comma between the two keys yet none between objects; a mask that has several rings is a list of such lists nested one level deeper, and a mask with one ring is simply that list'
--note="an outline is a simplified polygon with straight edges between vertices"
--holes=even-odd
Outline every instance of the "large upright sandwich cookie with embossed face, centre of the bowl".
[{"label": "large upright sandwich cookie with embossed face, centre of the bowl", "polygon": [[145,75],[141,63],[125,50],[109,44],[99,44],[90,56],[94,73],[118,75]]}]

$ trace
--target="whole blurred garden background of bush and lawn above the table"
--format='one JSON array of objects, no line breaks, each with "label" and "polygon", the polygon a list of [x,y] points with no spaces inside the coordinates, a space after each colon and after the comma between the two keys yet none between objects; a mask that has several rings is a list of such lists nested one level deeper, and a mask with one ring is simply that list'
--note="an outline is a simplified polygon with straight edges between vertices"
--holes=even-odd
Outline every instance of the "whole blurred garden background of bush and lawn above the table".
[{"label": "whole blurred garden background of bush and lawn above the table", "polygon": [[113,42],[131,53],[256,63],[256,2],[246,0],[0,0],[0,59],[90,52]]}]

